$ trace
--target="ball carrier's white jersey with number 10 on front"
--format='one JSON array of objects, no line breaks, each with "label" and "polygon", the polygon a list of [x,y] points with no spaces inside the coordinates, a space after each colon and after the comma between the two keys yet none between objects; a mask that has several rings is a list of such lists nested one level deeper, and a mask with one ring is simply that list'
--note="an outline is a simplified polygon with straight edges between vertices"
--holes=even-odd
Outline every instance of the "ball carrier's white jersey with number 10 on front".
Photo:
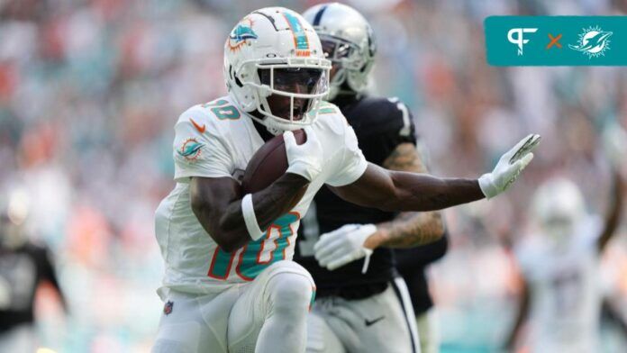
[{"label": "ball carrier's white jersey with number 10 on front", "polygon": [[368,163],[357,137],[340,109],[323,103],[312,125],[323,146],[323,171],[294,209],[282,215],[259,240],[231,254],[204,231],[190,206],[191,176],[233,177],[239,180],[252,155],[264,144],[252,119],[229,96],[198,104],[181,114],[175,126],[174,161],[177,186],[156,211],[156,235],[166,274],[159,295],[167,288],[207,293],[225,285],[251,281],[275,261],[292,259],[301,216],[324,184],[345,186]]}]

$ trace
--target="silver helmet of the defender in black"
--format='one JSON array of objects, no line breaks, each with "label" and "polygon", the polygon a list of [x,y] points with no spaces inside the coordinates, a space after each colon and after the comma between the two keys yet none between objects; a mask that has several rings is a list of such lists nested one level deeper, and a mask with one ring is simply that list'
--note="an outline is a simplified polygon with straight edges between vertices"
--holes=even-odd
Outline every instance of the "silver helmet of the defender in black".
[{"label": "silver helmet of the defender in black", "polygon": [[323,42],[337,71],[331,80],[327,99],[333,100],[346,82],[360,94],[368,87],[368,76],[375,63],[377,45],[370,24],[350,6],[338,3],[315,5],[304,12]]}]

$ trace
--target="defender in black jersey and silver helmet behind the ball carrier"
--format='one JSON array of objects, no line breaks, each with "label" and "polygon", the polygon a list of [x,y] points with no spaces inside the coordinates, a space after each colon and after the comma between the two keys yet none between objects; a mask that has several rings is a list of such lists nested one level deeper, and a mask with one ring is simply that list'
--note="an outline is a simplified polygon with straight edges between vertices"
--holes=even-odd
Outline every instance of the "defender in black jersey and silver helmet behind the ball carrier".
[{"label": "defender in black jersey and silver helmet behind the ball carrier", "polygon": [[[376,51],[368,22],[337,3],[316,5],[304,18],[313,24],[333,63],[328,100],[346,116],[364,156],[388,169],[426,172],[407,107],[396,98],[364,95]],[[390,248],[437,240],[433,246],[446,249],[441,213],[383,212],[347,203],[323,188],[301,230],[295,260],[317,286],[307,351],[419,351],[412,303]],[[413,262],[422,272],[421,254],[408,251],[404,258],[414,261],[404,263],[412,267]],[[412,279],[416,275],[410,271]]]}]

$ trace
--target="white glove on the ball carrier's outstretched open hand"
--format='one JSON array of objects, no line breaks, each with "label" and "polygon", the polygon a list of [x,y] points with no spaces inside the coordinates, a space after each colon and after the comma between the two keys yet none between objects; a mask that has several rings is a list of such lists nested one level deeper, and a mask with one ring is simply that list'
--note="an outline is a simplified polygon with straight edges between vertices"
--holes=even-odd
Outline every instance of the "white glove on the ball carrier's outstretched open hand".
[{"label": "white glove on the ball carrier's outstretched open hand", "polygon": [[496,163],[492,173],[479,176],[479,187],[486,198],[503,193],[532,161],[534,149],[540,142],[540,135],[531,134],[513,146]]}]

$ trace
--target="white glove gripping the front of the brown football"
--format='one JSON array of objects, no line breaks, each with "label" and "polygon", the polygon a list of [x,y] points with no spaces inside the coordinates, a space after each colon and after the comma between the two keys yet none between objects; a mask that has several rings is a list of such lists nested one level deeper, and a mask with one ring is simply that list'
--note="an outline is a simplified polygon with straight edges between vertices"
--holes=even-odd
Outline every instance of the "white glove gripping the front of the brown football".
[{"label": "white glove gripping the front of the brown football", "polygon": [[303,176],[310,182],[323,170],[323,145],[315,136],[311,126],[305,126],[307,140],[297,145],[294,132],[283,132],[286,142],[287,172]]}]

